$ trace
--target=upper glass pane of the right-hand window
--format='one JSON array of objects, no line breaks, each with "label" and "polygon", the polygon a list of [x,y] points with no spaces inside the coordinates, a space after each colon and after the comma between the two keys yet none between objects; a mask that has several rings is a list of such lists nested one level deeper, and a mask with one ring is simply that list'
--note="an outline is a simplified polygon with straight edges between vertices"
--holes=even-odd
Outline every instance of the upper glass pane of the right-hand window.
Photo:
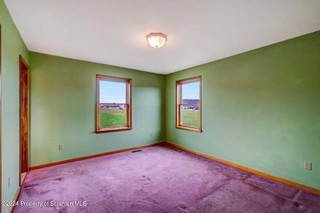
[{"label": "upper glass pane of the right-hand window", "polygon": [[182,83],[181,96],[182,103],[199,103],[199,86],[200,82]]}]

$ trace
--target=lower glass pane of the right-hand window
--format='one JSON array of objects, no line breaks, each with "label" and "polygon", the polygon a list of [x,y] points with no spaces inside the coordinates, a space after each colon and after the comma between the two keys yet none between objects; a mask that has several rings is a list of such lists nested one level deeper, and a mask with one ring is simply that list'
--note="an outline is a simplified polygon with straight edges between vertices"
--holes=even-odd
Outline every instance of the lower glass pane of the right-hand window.
[{"label": "lower glass pane of the right-hand window", "polygon": [[199,126],[199,105],[181,105],[181,124]]}]

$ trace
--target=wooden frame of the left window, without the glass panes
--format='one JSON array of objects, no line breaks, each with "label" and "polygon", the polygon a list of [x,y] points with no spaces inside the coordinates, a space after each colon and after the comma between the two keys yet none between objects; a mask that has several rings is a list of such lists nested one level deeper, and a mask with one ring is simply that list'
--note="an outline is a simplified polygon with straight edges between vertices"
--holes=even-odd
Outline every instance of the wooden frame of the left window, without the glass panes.
[{"label": "wooden frame of the left window, without the glass panes", "polygon": [[[126,83],[125,86],[125,103],[100,103],[100,80]],[[114,131],[127,131],[132,129],[131,123],[131,90],[132,90],[132,79],[123,77],[114,77],[109,75],[96,75],[96,133],[114,132]],[[126,125],[124,126],[100,126],[100,105],[105,104],[119,104],[126,105]]]}]

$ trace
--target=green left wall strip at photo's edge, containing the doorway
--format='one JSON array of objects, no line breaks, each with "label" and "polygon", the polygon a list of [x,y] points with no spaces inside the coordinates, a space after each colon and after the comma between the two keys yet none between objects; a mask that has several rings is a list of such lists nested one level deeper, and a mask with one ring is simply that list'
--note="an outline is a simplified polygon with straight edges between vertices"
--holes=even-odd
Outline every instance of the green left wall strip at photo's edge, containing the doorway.
[{"label": "green left wall strip at photo's edge, containing the doorway", "polygon": [[[12,200],[19,186],[19,54],[28,51],[0,0],[1,23],[1,199]],[[8,177],[11,176],[11,186]],[[9,206],[1,206],[6,212]]]}]

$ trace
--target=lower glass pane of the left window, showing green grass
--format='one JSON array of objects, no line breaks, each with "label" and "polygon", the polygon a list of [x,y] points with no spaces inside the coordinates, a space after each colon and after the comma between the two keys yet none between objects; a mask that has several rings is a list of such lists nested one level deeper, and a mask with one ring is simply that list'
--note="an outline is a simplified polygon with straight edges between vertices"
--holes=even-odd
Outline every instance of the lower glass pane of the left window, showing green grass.
[{"label": "lower glass pane of the left window, showing green grass", "polygon": [[125,126],[126,105],[100,105],[100,127]]}]

